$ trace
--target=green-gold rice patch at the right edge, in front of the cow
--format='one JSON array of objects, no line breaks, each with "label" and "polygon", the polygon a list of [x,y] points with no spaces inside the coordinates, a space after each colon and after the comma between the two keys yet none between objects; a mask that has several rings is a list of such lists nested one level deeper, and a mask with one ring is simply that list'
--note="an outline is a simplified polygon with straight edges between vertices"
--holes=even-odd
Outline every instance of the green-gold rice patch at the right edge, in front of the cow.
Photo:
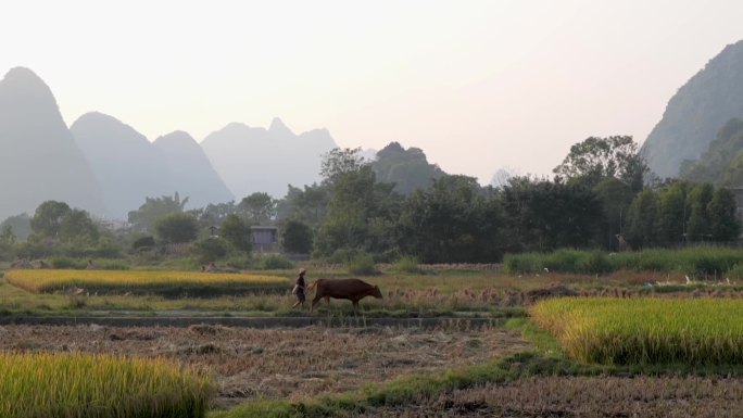
[{"label": "green-gold rice patch at the right edge, in front of the cow", "polygon": [[530,314],[582,362],[743,364],[742,300],[564,297]]}]

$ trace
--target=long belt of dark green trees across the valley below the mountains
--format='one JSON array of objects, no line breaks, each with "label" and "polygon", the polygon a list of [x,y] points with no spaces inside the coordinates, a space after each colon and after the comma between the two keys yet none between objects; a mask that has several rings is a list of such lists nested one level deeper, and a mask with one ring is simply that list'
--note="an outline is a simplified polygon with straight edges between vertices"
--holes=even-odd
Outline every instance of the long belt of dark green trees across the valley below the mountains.
[{"label": "long belt of dark green trees across the valley below the mountains", "polygon": [[[419,173],[431,172],[419,155],[415,159]],[[385,173],[406,173],[386,164]],[[113,256],[191,243],[192,255],[205,262],[250,255],[250,227],[275,225],[285,252],[318,258],[370,254],[377,261],[414,256],[423,263],[491,263],[506,253],[561,248],[617,251],[730,242],[741,229],[730,190],[655,178],[628,136],[576,143],[552,178],[517,176],[483,187],[473,177],[439,172],[431,172],[436,176],[426,187],[395,188],[380,181],[379,167],[360,149],[336,149],[324,155],[322,182],[289,186],[284,199],[259,192],[237,203],[186,211],[188,198],[178,193],[147,198],[129,213],[128,228],[116,232],[85,211],[49,201],[29,218],[26,241],[18,242],[10,225],[3,227],[0,256],[54,251]]]}]

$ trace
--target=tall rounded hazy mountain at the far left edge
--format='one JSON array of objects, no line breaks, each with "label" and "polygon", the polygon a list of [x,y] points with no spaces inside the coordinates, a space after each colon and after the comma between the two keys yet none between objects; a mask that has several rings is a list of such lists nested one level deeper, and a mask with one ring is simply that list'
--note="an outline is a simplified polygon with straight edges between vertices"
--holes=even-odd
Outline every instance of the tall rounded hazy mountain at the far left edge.
[{"label": "tall rounded hazy mountain at the far left edge", "polygon": [[103,213],[101,190],[49,87],[28,68],[0,81],[0,219],[46,200]]}]

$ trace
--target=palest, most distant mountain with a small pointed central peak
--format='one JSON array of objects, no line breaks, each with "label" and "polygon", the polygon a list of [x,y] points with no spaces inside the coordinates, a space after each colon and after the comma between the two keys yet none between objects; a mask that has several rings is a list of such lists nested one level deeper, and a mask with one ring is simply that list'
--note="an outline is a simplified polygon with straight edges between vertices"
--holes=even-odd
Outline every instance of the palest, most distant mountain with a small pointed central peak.
[{"label": "palest, most distant mountain with a small pointed central peak", "polygon": [[201,147],[238,201],[254,192],[282,198],[288,185],[319,181],[322,155],[337,148],[327,129],[295,135],[279,118],[268,129],[229,124]]}]

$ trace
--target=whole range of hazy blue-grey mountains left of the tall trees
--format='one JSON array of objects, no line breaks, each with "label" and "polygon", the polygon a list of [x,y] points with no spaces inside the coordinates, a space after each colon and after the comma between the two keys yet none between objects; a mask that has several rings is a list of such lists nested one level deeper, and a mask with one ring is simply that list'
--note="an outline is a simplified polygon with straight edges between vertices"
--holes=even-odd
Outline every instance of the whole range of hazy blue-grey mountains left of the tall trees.
[{"label": "whole range of hazy blue-grey mountains left of the tall trees", "polygon": [[256,191],[281,198],[290,183],[319,181],[333,148],[327,129],[295,135],[279,118],[268,129],[232,123],[201,144],[184,131],[150,142],[99,112],[67,128],[49,87],[17,67],[0,80],[0,220],[33,215],[47,200],[126,219],[146,198],[175,192],[189,198],[187,208]]}]

